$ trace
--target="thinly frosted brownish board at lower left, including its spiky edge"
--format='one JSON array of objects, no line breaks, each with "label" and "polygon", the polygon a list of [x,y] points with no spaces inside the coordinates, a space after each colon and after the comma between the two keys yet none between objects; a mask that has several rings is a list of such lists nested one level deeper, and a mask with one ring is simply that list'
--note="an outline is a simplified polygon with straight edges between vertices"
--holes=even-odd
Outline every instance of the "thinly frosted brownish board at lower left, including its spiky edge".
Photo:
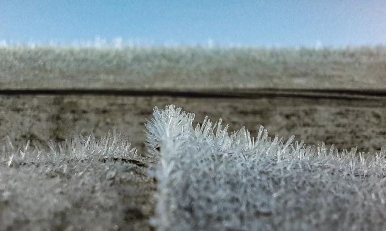
[{"label": "thinly frosted brownish board at lower left, including its spiky edge", "polygon": [[124,135],[48,146],[0,146],[0,230],[143,230],[125,223],[147,177]]}]

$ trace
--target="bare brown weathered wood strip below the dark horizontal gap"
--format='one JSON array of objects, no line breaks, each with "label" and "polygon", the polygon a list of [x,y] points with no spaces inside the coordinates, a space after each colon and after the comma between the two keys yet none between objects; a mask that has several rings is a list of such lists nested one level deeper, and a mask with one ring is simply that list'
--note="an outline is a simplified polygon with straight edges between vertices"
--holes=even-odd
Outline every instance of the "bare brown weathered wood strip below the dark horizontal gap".
[{"label": "bare brown weathered wood strip below the dark horizontal gap", "polygon": [[145,153],[146,118],[154,106],[175,104],[196,114],[195,124],[206,115],[223,119],[229,132],[245,126],[257,135],[260,125],[271,136],[277,132],[306,144],[325,142],[339,149],[358,146],[375,152],[386,144],[386,101],[315,98],[186,98],[92,95],[0,96],[0,139],[9,135],[15,142],[26,139],[45,143],[71,134],[105,134],[117,127],[140,153]]}]

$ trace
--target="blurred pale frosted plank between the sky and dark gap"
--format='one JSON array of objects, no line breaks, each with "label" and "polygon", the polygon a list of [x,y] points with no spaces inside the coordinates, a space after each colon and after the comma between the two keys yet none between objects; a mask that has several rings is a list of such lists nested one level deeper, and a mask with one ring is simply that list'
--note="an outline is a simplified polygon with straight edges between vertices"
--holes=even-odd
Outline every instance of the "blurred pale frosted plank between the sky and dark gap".
[{"label": "blurred pale frosted plank between the sky and dark gap", "polygon": [[0,89],[386,90],[386,48],[0,48]]}]

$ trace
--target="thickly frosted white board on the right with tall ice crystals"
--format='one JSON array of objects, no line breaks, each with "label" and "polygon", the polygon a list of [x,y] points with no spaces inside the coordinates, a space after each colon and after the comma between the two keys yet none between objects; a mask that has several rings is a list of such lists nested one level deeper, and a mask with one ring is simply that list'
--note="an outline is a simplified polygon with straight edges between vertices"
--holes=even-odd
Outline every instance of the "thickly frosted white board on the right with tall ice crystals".
[{"label": "thickly frosted white board on the right with tall ice crystals", "polygon": [[154,109],[157,230],[386,230],[384,151],[339,153]]}]

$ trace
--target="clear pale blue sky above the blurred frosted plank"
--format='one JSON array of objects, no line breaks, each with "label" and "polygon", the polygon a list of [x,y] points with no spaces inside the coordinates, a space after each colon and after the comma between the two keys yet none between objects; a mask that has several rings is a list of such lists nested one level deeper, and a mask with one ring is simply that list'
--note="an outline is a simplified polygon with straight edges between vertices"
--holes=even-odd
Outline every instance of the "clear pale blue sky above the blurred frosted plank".
[{"label": "clear pale blue sky above the blurred frosted plank", "polygon": [[386,45],[384,0],[0,0],[0,40],[138,45]]}]

